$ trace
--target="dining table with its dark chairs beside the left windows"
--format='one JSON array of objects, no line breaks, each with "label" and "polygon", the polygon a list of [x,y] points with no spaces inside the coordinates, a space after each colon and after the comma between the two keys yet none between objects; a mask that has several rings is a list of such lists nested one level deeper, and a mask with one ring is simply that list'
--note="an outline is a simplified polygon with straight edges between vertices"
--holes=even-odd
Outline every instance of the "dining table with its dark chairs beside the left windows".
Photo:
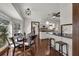
[{"label": "dining table with its dark chairs beside the left windows", "polygon": [[25,50],[27,50],[27,52],[31,51],[31,47],[35,43],[33,40],[35,39],[35,37],[36,36],[33,36],[33,38],[31,38],[32,41],[30,41],[29,43],[25,38],[22,38],[21,40],[16,40],[14,39],[14,37],[9,38],[9,40],[7,40],[6,56],[18,56],[17,53],[20,53],[21,55],[25,55],[26,53]]}]

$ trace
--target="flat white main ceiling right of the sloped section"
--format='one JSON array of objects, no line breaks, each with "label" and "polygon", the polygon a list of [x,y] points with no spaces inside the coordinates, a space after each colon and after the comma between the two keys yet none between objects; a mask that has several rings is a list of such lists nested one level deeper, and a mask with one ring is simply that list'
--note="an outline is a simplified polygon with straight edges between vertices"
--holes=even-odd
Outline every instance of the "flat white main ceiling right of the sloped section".
[{"label": "flat white main ceiling right of the sloped section", "polygon": [[31,17],[45,19],[50,13],[60,11],[59,3],[13,3],[12,4],[18,13],[26,19],[25,10],[31,9]]}]

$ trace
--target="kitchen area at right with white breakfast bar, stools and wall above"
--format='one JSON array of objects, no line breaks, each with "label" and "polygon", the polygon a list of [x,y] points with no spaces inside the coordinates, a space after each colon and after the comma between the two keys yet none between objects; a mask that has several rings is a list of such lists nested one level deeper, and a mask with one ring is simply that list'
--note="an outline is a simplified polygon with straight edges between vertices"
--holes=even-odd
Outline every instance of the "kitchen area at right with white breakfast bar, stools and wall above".
[{"label": "kitchen area at right with white breakfast bar, stools and wall above", "polygon": [[[41,23],[40,39],[53,38],[52,47],[61,50],[60,53],[63,51],[63,55],[72,56],[72,5],[63,4],[61,7],[60,12]],[[61,47],[61,42],[67,46]]]}]

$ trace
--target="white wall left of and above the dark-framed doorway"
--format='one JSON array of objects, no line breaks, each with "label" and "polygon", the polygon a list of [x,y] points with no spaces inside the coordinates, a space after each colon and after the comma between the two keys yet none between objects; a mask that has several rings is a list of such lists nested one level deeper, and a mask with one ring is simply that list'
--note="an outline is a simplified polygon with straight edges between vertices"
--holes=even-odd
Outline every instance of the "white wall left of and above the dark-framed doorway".
[{"label": "white wall left of and above the dark-framed doorway", "polygon": [[30,33],[31,32],[31,21],[38,21],[40,22],[41,18],[37,18],[36,16],[28,16],[25,20],[25,27],[24,28],[24,31],[26,32],[26,34]]}]

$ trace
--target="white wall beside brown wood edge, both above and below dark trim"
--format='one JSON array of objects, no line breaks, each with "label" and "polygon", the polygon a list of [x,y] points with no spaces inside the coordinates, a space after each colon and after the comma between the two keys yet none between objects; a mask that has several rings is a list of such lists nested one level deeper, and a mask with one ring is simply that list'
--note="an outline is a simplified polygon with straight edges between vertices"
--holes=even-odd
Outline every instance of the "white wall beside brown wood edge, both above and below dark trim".
[{"label": "white wall beside brown wood edge, both above and below dark trim", "polygon": [[[60,25],[72,24],[72,4],[60,4]],[[64,27],[64,33],[72,34],[72,25]]]}]

